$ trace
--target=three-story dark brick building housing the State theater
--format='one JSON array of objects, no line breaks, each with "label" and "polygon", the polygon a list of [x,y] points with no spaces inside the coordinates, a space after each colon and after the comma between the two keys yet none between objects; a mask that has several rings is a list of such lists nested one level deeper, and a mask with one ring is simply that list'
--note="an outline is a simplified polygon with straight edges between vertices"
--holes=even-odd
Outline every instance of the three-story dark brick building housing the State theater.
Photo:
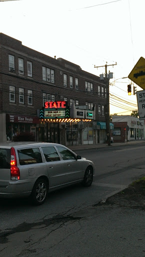
[{"label": "three-story dark brick building housing the State theater", "polygon": [[[106,90],[105,81],[80,66],[0,33],[0,142],[30,132],[35,141],[103,143]],[[65,101],[72,116],[39,119],[46,101]]]}]

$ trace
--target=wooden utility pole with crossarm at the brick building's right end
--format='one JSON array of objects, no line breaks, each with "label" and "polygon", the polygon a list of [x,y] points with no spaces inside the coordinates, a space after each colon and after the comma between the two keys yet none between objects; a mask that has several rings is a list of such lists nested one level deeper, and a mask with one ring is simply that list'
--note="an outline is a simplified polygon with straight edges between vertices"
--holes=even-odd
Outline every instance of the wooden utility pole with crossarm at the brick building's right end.
[{"label": "wooden utility pole with crossarm at the brick building's right end", "polygon": [[109,74],[107,74],[107,67],[108,66],[114,66],[117,65],[115,64],[106,64],[103,66],[95,66],[94,68],[100,68],[100,67],[105,67],[105,77],[104,80],[106,81],[106,105],[105,105],[105,123],[106,123],[106,136],[107,136],[107,145],[110,146],[110,127],[109,127]]}]

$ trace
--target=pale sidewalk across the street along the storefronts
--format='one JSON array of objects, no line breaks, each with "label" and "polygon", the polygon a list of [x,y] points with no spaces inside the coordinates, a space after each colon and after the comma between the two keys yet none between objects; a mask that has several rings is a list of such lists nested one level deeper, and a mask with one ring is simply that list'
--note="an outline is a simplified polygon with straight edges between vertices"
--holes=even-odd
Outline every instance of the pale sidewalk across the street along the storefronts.
[{"label": "pale sidewalk across the street along the storefronts", "polygon": [[[136,145],[138,143],[142,143],[145,144],[145,139],[141,139],[141,140],[132,140],[132,141],[128,141],[126,143],[111,143],[110,147],[114,147],[114,146],[127,146],[127,145]],[[109,147],[106,143],[103,144],[96,144],[96,145],[74,145],[74,146],[67,146],[67,148],[69,148],[72,151],[77,151],[77,150],[87,150],[87,149],[98,149],[98,148],[106,148]]]}]

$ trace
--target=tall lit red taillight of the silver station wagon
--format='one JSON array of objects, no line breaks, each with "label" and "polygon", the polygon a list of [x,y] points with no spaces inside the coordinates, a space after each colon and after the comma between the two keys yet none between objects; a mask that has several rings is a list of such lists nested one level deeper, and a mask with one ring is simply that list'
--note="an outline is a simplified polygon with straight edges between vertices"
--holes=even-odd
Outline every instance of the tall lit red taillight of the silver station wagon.
[{"label": "tall lit red taillight of the silver station wagon", "polygon": [[10,176],[11,180],[19,180],[20,173],[17,167],[16,154],[13,147],[10,149]]}]

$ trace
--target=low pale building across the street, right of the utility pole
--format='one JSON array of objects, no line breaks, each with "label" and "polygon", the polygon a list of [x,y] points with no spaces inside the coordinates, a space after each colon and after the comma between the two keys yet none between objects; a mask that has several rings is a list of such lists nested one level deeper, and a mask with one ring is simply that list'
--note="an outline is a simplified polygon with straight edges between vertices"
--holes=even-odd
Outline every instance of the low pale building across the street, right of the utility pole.
[{"label": "low pale building across the street, right of the utility pole", "polygon": [[144,137],[144,120],[129,115],[113,115],[113,142],[140,140]]}]

